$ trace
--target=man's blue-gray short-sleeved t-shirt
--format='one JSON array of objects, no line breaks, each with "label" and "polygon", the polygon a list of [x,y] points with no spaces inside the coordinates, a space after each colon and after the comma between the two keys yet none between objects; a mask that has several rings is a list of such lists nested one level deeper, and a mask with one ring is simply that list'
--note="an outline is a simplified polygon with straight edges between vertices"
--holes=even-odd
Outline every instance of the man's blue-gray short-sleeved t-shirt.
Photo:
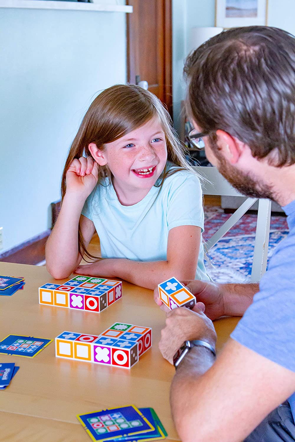
[{"label": "man's blue-gray short-sleeved t-shirt", "polygon": [[[290,232],[274,251],[259,292],[230,336],[295,372],[295,200],[283,209]],[[295,420],[295,393],[288,400]]]}]

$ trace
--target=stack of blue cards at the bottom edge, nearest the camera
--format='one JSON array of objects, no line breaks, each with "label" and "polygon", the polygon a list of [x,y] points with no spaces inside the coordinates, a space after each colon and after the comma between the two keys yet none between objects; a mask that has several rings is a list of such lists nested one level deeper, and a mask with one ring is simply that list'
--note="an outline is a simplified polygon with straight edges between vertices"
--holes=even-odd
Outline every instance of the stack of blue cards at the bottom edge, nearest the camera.
[{"label": "stack of blue cards at the bottom edge, nearest the camera", "polygon": [[153,408],[127,405],[77,415],[92,441],[144,442],[165,439],[167,432]]}]

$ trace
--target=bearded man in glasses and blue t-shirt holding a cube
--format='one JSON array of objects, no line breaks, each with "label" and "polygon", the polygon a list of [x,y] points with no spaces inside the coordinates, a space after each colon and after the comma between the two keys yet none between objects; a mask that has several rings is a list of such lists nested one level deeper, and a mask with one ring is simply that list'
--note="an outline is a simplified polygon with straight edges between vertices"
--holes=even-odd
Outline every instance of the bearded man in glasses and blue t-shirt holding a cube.
[{"label": "bearded man in glasses and blue t-shirt holding a cube", "polygon": [[[183,442],[295,441],[295,38],[231,29],[200,46],[184,71],[208,160],[238,191],[278,202],[290,232],[260,286],[193,281],[194,311],[167,313],[159,347],[169,362],[197,340],[176,356],[173,419]],[[211,320],[223,315],[243,317],[215,359]]]}]

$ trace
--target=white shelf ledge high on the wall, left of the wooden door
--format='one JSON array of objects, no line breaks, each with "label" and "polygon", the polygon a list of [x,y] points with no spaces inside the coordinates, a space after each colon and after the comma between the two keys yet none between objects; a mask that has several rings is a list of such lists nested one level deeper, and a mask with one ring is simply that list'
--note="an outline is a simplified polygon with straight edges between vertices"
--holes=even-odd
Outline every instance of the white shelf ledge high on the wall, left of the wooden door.
[{"label": "white shelf ledge high on the wall, left of the wooden door", "polygon": [[132,6],[54,0],[0,0],[0,8],[62,9],[67,11],[132,12]]}]

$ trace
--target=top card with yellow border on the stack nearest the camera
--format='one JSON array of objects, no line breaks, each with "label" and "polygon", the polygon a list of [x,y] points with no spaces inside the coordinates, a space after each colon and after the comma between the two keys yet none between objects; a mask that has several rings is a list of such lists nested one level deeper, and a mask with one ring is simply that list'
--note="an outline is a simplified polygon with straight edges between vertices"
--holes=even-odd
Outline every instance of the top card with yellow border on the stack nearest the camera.
[{"label": "top card with yellow border on the stack nearest the camera", "polygon": [[155,430],[134,405],[77,415],[77,418],[92,441],[109,441]]}]

